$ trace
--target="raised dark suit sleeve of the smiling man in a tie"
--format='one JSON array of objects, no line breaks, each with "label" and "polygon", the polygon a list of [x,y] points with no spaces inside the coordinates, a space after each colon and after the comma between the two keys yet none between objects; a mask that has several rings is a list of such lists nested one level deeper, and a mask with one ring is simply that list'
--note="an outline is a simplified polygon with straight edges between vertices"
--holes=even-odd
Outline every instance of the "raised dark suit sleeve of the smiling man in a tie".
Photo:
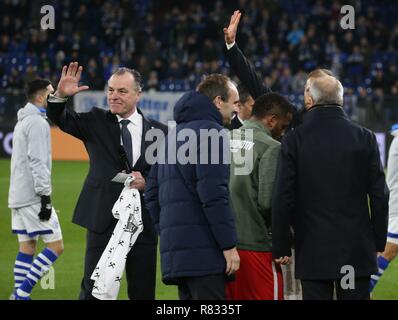
[{"label": "raised dark suit sleeve of the smiling man in a tie", "polygon": [[87,140],[90,112],[77,113],[66,108],[66,102],[50,102],[47,100],[47,116],[62,131],[80,139]]}]

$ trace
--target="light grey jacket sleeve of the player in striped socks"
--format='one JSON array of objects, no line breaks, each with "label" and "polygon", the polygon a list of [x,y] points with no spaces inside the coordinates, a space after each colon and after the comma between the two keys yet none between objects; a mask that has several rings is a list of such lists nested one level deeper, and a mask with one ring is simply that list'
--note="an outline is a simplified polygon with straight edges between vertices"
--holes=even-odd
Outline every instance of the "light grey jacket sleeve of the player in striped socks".
[{"label": "light grey jacket sleeve of the player in striped socks", "polygon": [[50,132],[47,121],[40,120],[27,123],[27,155],[36,194],[49,196],[51,195],[51,172],[48,163],[51,153],[48,142]]}]

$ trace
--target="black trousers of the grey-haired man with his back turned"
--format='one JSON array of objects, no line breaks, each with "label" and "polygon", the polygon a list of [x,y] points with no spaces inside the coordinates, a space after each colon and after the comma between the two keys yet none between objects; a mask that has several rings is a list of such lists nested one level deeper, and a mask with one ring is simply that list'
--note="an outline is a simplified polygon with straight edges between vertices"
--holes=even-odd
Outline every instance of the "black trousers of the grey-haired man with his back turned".
[{"label": "black trousers of the grey-haired man with his back turned", "polygon": [[370,277],[355,278],[355,289],[343,289],[340,280],[301,280],[303,300],[369,300]]}]

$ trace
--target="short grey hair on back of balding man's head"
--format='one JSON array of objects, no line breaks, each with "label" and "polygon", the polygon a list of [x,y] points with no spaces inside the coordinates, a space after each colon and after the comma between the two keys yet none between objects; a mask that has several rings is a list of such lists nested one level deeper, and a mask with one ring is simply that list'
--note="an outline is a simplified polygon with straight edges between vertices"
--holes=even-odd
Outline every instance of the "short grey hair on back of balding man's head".
[{"label": "short grey hair on back of balding man's head", "polygon": [[311,80],[309,94],[314,104],[338,104],[343,106],[344,88],[333,76],[324,76]]}]

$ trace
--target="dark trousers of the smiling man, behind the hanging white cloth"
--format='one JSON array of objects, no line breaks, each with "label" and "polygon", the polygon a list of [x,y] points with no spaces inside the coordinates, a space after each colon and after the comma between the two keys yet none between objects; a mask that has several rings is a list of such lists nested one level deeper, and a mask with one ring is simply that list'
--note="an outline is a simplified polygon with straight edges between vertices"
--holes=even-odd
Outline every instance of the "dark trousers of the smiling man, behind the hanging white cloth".
[{"label": "dark trousers of the smiling man, behind the hanging white cloth", "polygon": [[[87,246],[84,259],[84,276],[81,283],[80,300],[93,300],[94,281],[90,279],[109,239],[114,225],[105,233],[87,230]],[[142,234],[140,234],[141,236]],[[127,293],[131,300],[154,300],[156,285],[156,244],[140,243],[138,237],[126,260]]]}]

